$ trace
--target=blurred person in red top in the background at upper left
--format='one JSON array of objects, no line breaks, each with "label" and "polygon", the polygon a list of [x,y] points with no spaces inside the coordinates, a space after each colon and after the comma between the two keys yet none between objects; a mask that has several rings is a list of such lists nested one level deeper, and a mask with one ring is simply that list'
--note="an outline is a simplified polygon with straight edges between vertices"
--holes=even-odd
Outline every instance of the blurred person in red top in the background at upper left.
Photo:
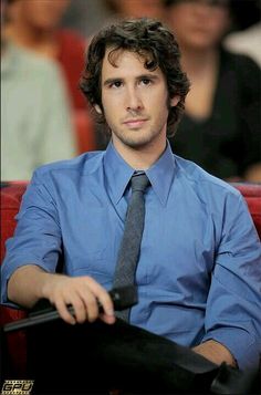
[{"label": "blurred person in red top in the background at upper left", "polygon": [[86,40],[60,28],[70,0],[8,0],[6,34],[15,44],[56,61],[64,74],[74,108],[85,108],[79,90]]}]

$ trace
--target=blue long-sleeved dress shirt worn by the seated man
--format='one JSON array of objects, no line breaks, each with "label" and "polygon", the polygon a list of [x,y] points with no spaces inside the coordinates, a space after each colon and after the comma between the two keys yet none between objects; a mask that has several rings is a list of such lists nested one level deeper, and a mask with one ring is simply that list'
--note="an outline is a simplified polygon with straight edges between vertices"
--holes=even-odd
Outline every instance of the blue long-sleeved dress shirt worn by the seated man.
[{"label": "blue long-sleeved dress shirt worn by the seated man", "polygon": [[[2,302],[13,271],[34,263],[112,287],[134,169],[105,152],[40,167],[23,196],[2,266]],[[146,174],[146,216],[130,323],[194,346],[226,345],[241,368],[261,350],[261,245],[244,199],[227,183],[173,155]]]}]

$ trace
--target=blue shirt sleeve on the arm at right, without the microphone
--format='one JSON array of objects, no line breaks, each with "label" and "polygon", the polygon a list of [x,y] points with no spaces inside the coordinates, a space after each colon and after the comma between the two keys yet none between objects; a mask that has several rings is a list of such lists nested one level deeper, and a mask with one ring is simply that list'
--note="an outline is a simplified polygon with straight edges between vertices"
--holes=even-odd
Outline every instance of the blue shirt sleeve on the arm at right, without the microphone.
[{"label": "blue shirt sleeve on the arm at right, without the microphone", "polygon": [[241,196],[228,197],[223,218],[202,342],[220,342],[240,368],[255,370],[261,352],[261,245]]}]

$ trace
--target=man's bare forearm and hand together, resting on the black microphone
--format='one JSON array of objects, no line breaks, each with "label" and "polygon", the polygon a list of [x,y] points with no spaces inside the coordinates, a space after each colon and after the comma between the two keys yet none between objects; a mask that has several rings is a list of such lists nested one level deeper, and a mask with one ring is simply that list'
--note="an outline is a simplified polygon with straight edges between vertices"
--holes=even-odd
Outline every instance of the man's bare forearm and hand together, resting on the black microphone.
[{"label": "man's bare forearm and hand together, resting on the black microphone", "polygon": [[[8,282],[8,298],[27,309],[40,299],[48,299],[61,318],[70,323],[82,323],[101,318],[105,323],[115,322],[113,301],[108,292],[91,277],[67,277],[48,273],[34,264],[17,269]],[[104,313],[98,312],[98,303]],[[72,315],[67,305],[74,309]]]}]

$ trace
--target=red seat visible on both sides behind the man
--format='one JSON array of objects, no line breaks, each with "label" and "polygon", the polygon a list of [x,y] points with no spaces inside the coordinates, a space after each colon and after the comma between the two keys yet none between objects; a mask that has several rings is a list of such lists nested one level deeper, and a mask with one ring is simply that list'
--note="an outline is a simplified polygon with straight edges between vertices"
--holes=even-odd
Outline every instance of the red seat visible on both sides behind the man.
[{"label": "red seat visible on both sides behind the man", "polygon": [[[6,252],[6,240],[13,235],[15,220],[14,216],[19,210],[22,195],[27,188],[27,181],[3,183],[1,186],[1,261]],[[233,184],[247,200],[252,215],[259,237],[261,239],[261,185]],[[19,310],[0,305],[0,324],[24,318],[25,313]],[[27,345],[25,333],[23,331],[10,333],[8,335],[8,355],[10,358],[10,375],[13,378],[24,378]]]}]

